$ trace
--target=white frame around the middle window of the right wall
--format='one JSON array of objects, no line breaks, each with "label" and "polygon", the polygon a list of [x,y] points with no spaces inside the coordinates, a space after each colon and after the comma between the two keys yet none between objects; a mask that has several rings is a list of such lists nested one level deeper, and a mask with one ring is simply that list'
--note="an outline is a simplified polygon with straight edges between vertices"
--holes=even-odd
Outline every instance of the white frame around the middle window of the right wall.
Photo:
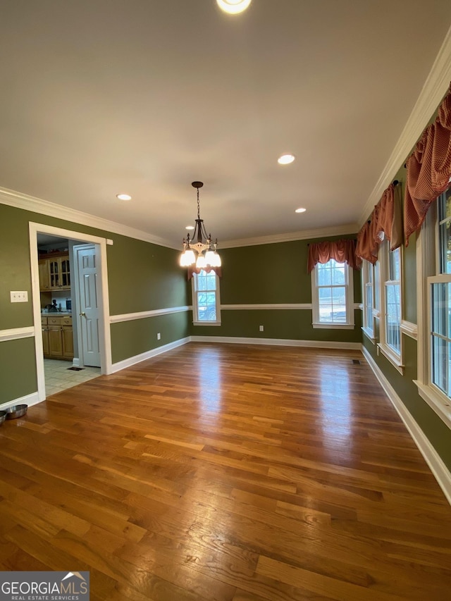
[{"label": "white frame around the middle window of the right wall", "polygon": [[[385,330],[385,324],[386,324],[386,307],[385,307],[385,287],[386,287],[386,283],[390,280],[388,280],[388,275],[389,275],[389,266],[388,266],[388,261],[389,261],[389,244],[390,242],[388,240],[385,240],[383,242],[383,244],[381,244],[381,247],[379,249],[379,259],[378,261],[380,261],[380,266],[379,266],[379,292],[380,292],[380,311],[379,311],[379,336],[380,336],[380,342],[378,342],[378,350],[381,351],[381,353],[383,354],[383,356],[388,359],[388,361],[390,361],[391,364],[393,364],[393,366],[395,367],[395,369],[397,369],[397,371],[399,371],[400,373],[404,374],[404,363],[402,361],[402,357],[403,357],[403,344],[402,344],[402,333],[400,331],[400,352],[399,354],[395,351],[395,349],[393,349],[393,347],[390,347],[390,345],[388,345],[387,343],[387,333]],[[402,247],[400,247],[400,280],[399,280],[399,285],[400,285],[400,324],[402,323],[402,281],[403,281],[403,268],[402,268],[402,264],[404,261],[404,255],[402,252]],[[398,281],[398,280],[395,280]]]}]

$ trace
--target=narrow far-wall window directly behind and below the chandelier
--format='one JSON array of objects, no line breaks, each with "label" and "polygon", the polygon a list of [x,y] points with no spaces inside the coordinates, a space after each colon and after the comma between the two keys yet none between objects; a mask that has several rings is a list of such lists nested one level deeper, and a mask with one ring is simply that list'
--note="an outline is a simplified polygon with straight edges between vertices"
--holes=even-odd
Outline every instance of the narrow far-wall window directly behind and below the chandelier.
[{"label": "narrow far-wall window directly behind and below the chandelier", "polygon": [[197,326],[220,326],[221,304],[219,278],[214,273],[194,273],[192,278],[193,323]]}]

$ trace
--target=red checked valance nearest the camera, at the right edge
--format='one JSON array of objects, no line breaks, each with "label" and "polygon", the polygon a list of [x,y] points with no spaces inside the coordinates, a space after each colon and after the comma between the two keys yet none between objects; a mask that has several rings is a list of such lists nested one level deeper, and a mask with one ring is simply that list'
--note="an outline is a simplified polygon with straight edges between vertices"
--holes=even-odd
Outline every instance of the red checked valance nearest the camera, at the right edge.
[{"label": "red checked valance nearest the camera, at the right edge", "polygon": [[423,223],[431,203],[447,190],[451,176],[451,86],[438,109],[437,118],[424,130],[406,163],[404,237]]}]

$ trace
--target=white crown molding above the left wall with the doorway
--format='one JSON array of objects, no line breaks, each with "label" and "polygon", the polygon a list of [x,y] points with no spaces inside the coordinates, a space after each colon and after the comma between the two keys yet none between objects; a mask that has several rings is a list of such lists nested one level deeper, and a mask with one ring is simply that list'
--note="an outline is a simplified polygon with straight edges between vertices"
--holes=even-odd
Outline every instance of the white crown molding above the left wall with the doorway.
[{"label": "white crown molding above the left wall with the doorway", "polygon": [[153,236],[147,232],[143,232],[142,230],[129,228],[128,225],[122,225],[121,223],[116,223],[116,221],[110,221],[109,219],[90,215],[89,213],[83,213],[82,211],[77,211],[76,209],[70,209],[68,206],[63,206],[61,204],[49,202],[48,200],[28,196],[28,194],[22,194],[21,192],[8,190],[7,188],[0,187],[0,204],[16,206],[18,209],[32,211],[33,213],[39,213],[49,217],[57,217],[59,219],[64,219],[65,221],[70,221],[71,223],[89,225],[90,228],[97,228],[99,230],[105,230],[106,232],[128,236],[130,238],[135,238],[135,240],[152,242],[152,244],[158,244],[158,246],[173,249],[178,248],[168,240],[164,240],[158,236]]}]

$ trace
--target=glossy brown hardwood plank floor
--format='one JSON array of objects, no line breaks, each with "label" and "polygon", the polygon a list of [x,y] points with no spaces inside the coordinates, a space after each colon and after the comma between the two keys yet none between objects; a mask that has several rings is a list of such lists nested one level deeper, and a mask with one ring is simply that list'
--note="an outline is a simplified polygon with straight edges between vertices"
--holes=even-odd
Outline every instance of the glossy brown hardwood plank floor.
[{"label": "glossy brown hardwood plank floor", "polygon": [[0,569],[93,601],[450,599],[451,507],[359,352],[191,343],[6,421],[0,459]]}]

